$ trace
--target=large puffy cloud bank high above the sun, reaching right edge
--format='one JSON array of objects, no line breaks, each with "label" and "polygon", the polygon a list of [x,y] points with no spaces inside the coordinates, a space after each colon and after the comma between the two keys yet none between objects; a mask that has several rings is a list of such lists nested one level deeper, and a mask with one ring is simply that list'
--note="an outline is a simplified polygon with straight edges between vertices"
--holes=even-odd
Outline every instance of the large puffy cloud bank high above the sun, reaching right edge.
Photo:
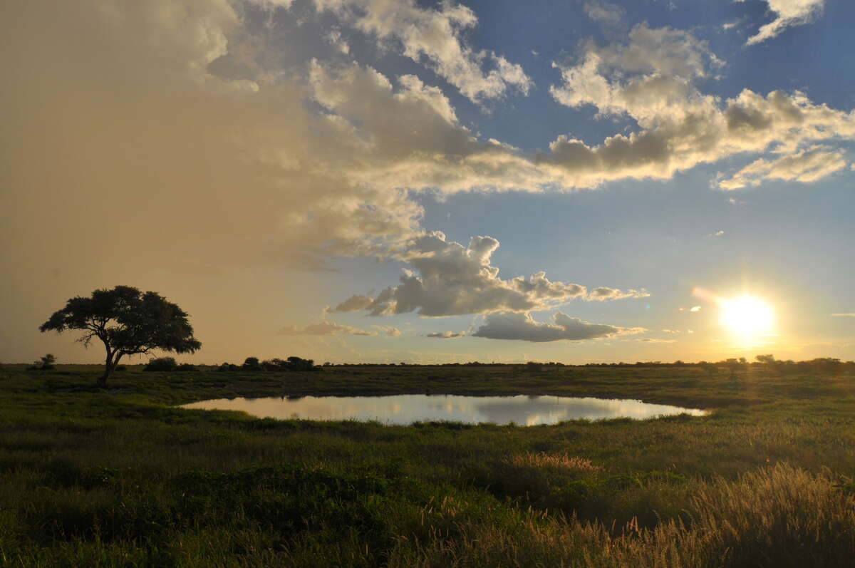
[{"label": "large puffy cloud bank high above the sun, reaching right edge", "polygon": [[699,80],[723,64],[704,41],[668,27],[640,24],[622,44],[589,41],[575,64],[553,63],[562,83],[551,86],[552,97],[633,119],[639,129],[596,146],[561,135],[537,163],[565,185],[597,186],[622,178],[669,179],[699,163],[770,148],[798,161],[800,151],[818,142],[855,139],[855,113],[814,104],[801,92],[764,97],[746,89],[726,99],[700,92]]}]

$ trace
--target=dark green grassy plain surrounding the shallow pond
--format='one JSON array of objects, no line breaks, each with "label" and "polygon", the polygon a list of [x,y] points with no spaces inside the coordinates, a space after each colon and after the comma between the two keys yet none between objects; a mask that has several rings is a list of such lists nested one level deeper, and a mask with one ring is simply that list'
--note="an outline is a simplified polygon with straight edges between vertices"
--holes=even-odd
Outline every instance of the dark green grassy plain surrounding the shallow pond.
[{"label": "dark green grassy plain surrounding the shallow pond", "polygon": [[[855,375],[0,370],[0,565],[851,566]],[[231,396],[562,394],[707,417],[313,423]]]}]

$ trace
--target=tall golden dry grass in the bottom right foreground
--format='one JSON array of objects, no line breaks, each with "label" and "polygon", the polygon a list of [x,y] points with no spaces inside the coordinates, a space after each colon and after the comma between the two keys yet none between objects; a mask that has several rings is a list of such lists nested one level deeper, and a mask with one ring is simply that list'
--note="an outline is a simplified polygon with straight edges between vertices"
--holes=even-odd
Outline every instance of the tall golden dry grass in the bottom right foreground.
[{"label": "tall golden dry grass in the bottom right foreground", "polygon": [[692,520],[654,529],[623,527],[528,511],[513,526],[457,522],[457,536],[437,533],[398,547],[390,566],[852,566],[855,500],[828,476],[789,464],[746,473],[735,482],[699,483]]}]

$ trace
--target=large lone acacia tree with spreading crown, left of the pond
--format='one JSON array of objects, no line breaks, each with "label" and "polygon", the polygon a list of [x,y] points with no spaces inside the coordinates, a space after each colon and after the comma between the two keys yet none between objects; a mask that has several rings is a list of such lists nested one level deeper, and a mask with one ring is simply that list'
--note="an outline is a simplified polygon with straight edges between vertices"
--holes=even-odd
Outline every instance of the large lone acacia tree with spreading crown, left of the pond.
[{"label": "large lone acacia tree with spreading crown, left of the pond", "polygon": [[102,340],[107,361],[97,382],[99,387],[106,386],[125,355],[154,349],[192,353],[202,346],[193,337],[186,311],[158,293],[142,293],[130,286],[96,290],[90,298],[69,299],[62,310],[54,312],[38,329],[42,333],[80,329],[84,334],[79,341],[87,347],[93,338]]}]

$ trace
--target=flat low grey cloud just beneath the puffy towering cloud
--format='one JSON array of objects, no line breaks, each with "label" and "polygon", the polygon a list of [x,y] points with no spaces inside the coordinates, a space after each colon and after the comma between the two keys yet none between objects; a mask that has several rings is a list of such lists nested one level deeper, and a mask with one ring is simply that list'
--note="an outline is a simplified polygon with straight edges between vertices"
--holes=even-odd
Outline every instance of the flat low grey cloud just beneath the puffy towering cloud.
[{"label": "flat low grey cloud just beneath the puffy towering cloud", "polygon": [[581,341],[623,334],[639,334],[644,328],[619,328],[601,323],[583,322],[557,311],[552,322],[535,321],[529,313],[499,312],[486,316],[486,322],[475,330],[473,337],[492,340],[523,341]]}]

